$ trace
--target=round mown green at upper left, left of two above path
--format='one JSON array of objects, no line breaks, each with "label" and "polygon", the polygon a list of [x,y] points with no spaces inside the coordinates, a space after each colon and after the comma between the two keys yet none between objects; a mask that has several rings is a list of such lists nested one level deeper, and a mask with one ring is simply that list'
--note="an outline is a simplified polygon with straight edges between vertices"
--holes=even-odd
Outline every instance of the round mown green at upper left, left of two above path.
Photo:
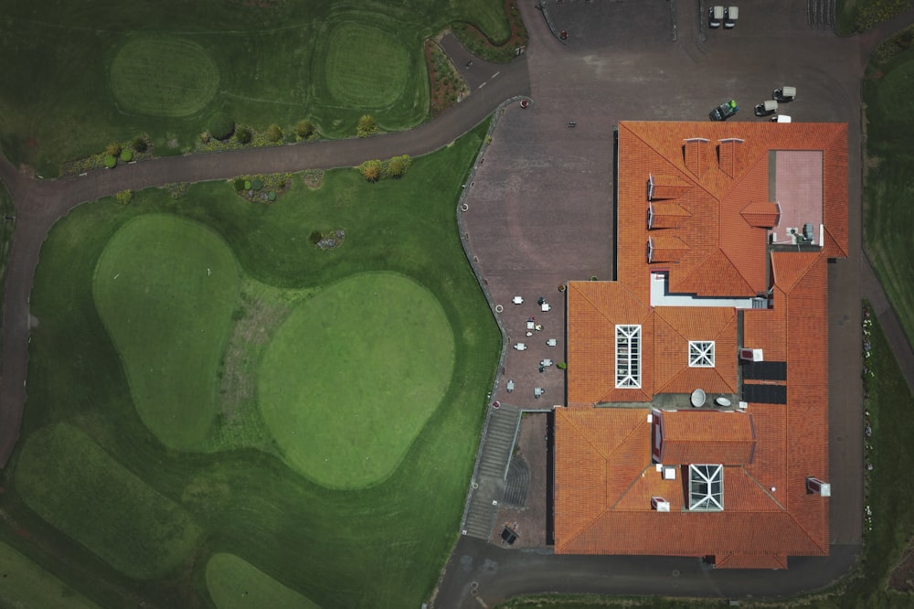
[{"label": "round mown green at upper left, left of two above path", "polygon": [[207,51],[182,38],[135,38],[112,61],[112,92],[125,112],[194,114],[207,106],[218,84],[218,68]]}]

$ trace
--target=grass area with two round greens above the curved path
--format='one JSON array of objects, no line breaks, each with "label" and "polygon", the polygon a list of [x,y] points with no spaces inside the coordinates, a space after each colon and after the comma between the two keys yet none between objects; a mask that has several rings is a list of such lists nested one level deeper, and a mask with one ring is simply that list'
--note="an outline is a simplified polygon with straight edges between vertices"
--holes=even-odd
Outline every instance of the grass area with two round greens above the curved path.
[{"label": "grass area with two round greens above the curved path", "polygon": [[8,0],[0,15],[0,149],[52,176],[68,160],[149,134],[192,150],[207,117],[286,133],[311,118],[351,137],[428,118],[423,40],[452,22],[508,36],[503,0]]}]

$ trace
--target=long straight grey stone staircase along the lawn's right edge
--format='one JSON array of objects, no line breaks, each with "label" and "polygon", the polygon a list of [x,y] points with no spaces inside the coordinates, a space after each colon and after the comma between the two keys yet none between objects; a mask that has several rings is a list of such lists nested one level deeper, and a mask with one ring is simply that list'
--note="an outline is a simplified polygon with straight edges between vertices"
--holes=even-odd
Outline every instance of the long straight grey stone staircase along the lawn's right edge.
[{"label": "long straight grey stone staircase along the lawn's right edge", "polygon": [[463,513],[463,535],[481,540],[492,535],[498,505],[505,497],[505,476],[520,427],[520,414],[520,409],[503,404],[493,409],[486,421],[470,497]]}]

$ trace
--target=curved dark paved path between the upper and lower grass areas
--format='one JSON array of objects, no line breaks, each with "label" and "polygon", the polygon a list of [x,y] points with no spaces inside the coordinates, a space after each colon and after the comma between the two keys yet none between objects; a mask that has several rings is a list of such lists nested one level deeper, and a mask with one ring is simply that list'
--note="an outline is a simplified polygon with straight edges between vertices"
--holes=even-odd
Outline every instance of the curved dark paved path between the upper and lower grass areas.
[{"label": "curved dark paved path between the upper and lower grass areas", "polygon": [[[447,38],[447,37],[446,37]],[[459,46],[459,45],[458,45]],[[449,48],[453,49],[452,45]],[[455,63],[461,57],[455,58]],[[91,171],[36,181],[16,172],[0,157],[0,181],[16,205],[16,231],[9,254],[3,306],[3,367],[0,377],[0,467],[16,446],[26,401],[28,296],[38,251],[48,230],[70,209],[121,190],[140,190],[174,182],[203,182],[244,174],[272,174],[308,168],[357,166],[390,155],[424,155],[451,144],[484,121],[505,99],[529,93],[526,58],[505,66],[473,61],[476,88],[463,102],[430,123],[396,134],[367,139],[251,148],[238,152],[155,158],[113,171]],[[497,73],[497,76],[493,76]],[[479,84],[485,83],[483,87]]]}]

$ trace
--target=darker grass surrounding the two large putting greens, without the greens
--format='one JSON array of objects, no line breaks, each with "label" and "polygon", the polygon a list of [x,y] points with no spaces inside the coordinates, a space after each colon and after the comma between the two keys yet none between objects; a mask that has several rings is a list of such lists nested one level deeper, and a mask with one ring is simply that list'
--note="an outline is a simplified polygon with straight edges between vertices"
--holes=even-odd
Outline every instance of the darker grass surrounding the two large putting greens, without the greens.
[{"label": "darker grass surrounding the two large putting greens, without the greens", "polygon": [[[137,598],[157,606],[207,606],[206,565],[219,553],[238,556],[324,609],[399,609],[428,599],[458,535],[486,392],[501,346],[462,251],[455,219],[460,185],[486,127],[480,125],[434,155],[415,159],[401,180],[372,185],[355,169],[340,169],[327,172],[323,186],[312,190],[295,176],[291,190],[271,205],[239,198],[229,183],[194,185],[177,199],[154,189],[137,193],[126,207],[107,198],[60,220],[42,247],[31,296],[37,326],[31,333],[22,442],[7,468],[14,484],[0,478],[5,486],[0,509],[23,532],[0,528],[0,541],[16,541],[13,545],[30,559],[53,567],[61,581],[101,606],[135,606]],[[203,452],[164,446],[143,422],[133,400],[132,373],[122,364],[119,340],[109,335],[102,321],[108,316],[100,315],[93,294],[93,281],[97,291],[99,282],[113,277],[113,266],[106,265],[127,262],[107,260],[119,235],[160,219],[174,219],[178,231],[207,227],[205,233],[228,244],[242,274],[229,314],[236,324],[218,368],[218,407],[223,411],[217,413],[213,429],[228,432],[211,431]],[[318,250],[308,240],[314,230],[337,229],[344,229],[346,236],[334,250]],[[208,247],[196,228],[193,234],[197,246],[181,249],[188,257]],[[133,256],[127,248],[119,251]],[[134,259],[133,267],[157,264],[152,259],[159,251],[137,251],[145,252],[146,260]],[[404,433],[415,438],[391,475],[375,486],[333,490],[298,474],[283,460],[282,448],[260,420],[257,373],[282,320],[308,299],[345,285],[347,278],[379,272],[409,278],[429,294],[425,297],[437,301],[438,315],[452,328],[452,363],[445,362],[452,374],[440,403],[421,405],[430,411],[420,413],[428,421],[418,434],[415,429]],[[202,275],[200,281],[207,279]],[[167,284],[152,287],[172,289]],[[191,295],[195,289],[191,282]],[[312,348],[308,358],[324,353],[319,346]],[[404,386],[403,396],[411,389]],[[237,411],[226,412],[228,402]],[[340,407],[337,402],[324,406],[330,411]],[[352,411],[346,407],[345,412]],[[42,440],[46,430],[60,423],[80,430],[87,439],[80,446],[90,439],[95,451],[117,464],[107,469],[119,479],[129,472],[143,485],[123,490],[111,476],[97,472],[91,484],[98,497],[81,497],[69,479],[54,471],[61,463],[80,463],[80,454],[62,443],[51,456],[35,450],[49,442]],[[34,438],[39,443],[33,443]],[[219,447],[224,450],[216,451]],[[61,471],[77,478],[85,475]],[[32,480],[25,493],[20,478]],[[135,537],[139,531],[130,514],[148,493],[186,512],[201,529],[202,541],[185,550],[176,569],[142,582],[122,572],[150,559],[109,557],[122,552],[119,544],[145,539],[145,534]],[[62,511],[57,507],[64,501],[60,497],[79,508],[69,518],[86,520],[72,525],[52,516]],[[99,502],[104,504],[98,512],[111,514],[106,528],[127,540],[79,537],[90,534],[90,526],[82,526],[90,522],[87,507]],[[53,509],[33,510],[32,504]],[[56,520],[49,524],[45,516]],[[23,542],[25,534],[30,541]]]}]

